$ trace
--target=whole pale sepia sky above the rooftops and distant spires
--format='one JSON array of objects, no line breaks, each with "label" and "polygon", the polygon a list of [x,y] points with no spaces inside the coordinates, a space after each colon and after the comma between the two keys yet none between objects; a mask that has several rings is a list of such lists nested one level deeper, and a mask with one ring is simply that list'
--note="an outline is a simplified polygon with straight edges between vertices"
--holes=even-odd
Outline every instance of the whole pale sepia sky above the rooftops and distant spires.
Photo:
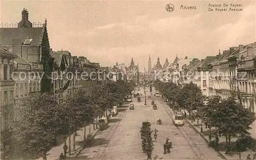
[{"label": "whole pale sepia sky above the rooftops and distant spires", "polygon": [[[173,12],[165,6],[173,4]],[[209,4],[241,4],[243,11],[208,11]],[[181,10],[180,6],[196,6]],[[203,59],[229,47],[256,41],[256,4],[250,1],[5,1],[0,22],[19,22],[26,8],[29,20],[44,22],[54,51],[68,50],[101,66],[130,65],[141,70],[159,56]],[[227,7],[229,9],[229,7]]]}]

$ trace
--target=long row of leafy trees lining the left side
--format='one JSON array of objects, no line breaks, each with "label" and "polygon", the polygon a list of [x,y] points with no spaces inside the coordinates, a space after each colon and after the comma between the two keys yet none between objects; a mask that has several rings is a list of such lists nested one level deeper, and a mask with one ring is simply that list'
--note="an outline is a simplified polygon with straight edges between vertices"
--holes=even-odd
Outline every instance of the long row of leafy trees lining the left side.
[{"label": "long row of leafy trees lining the left side", "polygon": [[[68,136],[79,128],[92,124],[106,110],[122,104],[134,86],[134,82],[109,81],[95,85],[90,92],[79,90],[68,95],[62,104],[57,103],[52,93],[35,93],[24,98],[17,108],[13,108],[18,110],[18,118],[10,122],[11,138],[20,144],[16,145],[16,154],[23,159],[36,158],[38,155],[46,159],[47,152],[56,144],[58,136]],[[67,136],[64,136],[64,141],[67,141]],[[86,139],[84,134],[84,141]],[[71,143],[68,144],[70,151]]]}]

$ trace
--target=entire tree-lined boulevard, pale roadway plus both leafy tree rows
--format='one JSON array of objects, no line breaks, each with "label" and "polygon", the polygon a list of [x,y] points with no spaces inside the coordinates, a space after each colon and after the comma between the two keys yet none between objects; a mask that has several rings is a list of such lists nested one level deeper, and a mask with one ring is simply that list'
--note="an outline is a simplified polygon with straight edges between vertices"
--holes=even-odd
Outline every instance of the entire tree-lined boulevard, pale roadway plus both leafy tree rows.
[{"label": "entire tree-lined boulevard, pale roadway plus both leafy tree rows", "polygon": [[[247,132],[254,115],[233,97],[206,98],[193,83],[182,86],[156,80],[153,86],[150,92],[150,87],[139,88],[132,81],[107,82],[90,92],[79,90],[68,95],[63,104],[58,104],[50,93],[31,94],[15,108],[21,116],[11,122],[12,138],[20,142],[19,153],[23,153],[20,156],[57,159],[49,154],[61,135],[67,148],[55,150],[57,154],[65,153],[59,159],[225,159],[233,153],[244,157],[244,151],[254,149],[255,143]],[[156,90],[160,97],[154,96]],[[133,102],[124,102],[132,91],[142,95],[141,102],[136,97]],[[152,101],[157,109],[153,109]],[[129,109],[130,104],[134,110]],[[113,106],[118,106],[118,114],[110,116]],[[184,113],[184,126],[173,123],[177,111]],[[108,117],[108,127],[88,133],[86,126],[97,126],[95,118],[102,116]],[[172,143],[169,153],[164,151],[167,138]],[[77,143],[81,145],[78,150]],[[220,149],[223,143],[227,156]]]}]

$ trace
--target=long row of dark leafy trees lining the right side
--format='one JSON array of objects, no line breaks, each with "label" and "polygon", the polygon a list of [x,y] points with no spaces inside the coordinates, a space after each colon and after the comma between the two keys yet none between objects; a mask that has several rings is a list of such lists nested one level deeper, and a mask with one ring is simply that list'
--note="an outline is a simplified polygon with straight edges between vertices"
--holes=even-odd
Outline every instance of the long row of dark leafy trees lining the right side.
[{"label": "long row of dark leafy trees lining the right side", "polygon": [[[199,121],[201,122],[201,133],[203,126],[208,128],[208,146],[220,151],[219,139],[224,137],[224,150],[227,155],[238,153],[241,158],[241,152],[255,150],[256,143],[247,131],[255,116],[234,98],[236,93],[232,93],[227,99],[221,99],[219,96],[203,96],[201,89],[194,83],[182,86],[157,80],[154,85],[169,103],[173,103],[170,106],[174,110],[183,110],[184,116],[190,119],[192,124],[197,121],[199,125]],[[174,104],[177,104],[176,107]],[[189,116],[186,116],[185,112],[188,112]],[[231,138],[236,138],[236,141],[231,143]],[[256,158],[255,153],[253,157]]]}]

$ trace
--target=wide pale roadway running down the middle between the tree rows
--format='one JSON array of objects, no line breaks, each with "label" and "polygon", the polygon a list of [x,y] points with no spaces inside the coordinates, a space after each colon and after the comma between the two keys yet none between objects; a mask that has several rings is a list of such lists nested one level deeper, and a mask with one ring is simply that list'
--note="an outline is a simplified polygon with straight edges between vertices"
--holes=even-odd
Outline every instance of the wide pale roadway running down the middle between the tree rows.
[{"label": "wide pale roadway running down the middle between the tree rows", "polygon": [[[146,98],[147,99],[147,98]],[[173,125],[170,115],[172,112],[165,106],[161,98],[153,97],[147,99],[144,105],[144,98],[138,103],[134,98],[135,110],[129,107],[120,108],[116,122],[110,123],[107,130],[99,132],[95,136],[97,146],[86,148],[80,155],[87,155],[93,159],[145,159],[146,154],[142,152],[140,127],[143,121],[151,122],[151,129],[158,130],[157,141],[154,142],[152,157],[157,159],[221,159],[221,156],[207,143],[193,128],[186,123],[183,127],[177,128]],[[151,101],[154,100],[158,106],[153,110]],[[161,118],[163,124],[157,125],[157,119]],[[114,120],[115,120],[114,119]],[[168,154],[163,154],[163,144],[166,138],[173,142],[173,148]]]}]

